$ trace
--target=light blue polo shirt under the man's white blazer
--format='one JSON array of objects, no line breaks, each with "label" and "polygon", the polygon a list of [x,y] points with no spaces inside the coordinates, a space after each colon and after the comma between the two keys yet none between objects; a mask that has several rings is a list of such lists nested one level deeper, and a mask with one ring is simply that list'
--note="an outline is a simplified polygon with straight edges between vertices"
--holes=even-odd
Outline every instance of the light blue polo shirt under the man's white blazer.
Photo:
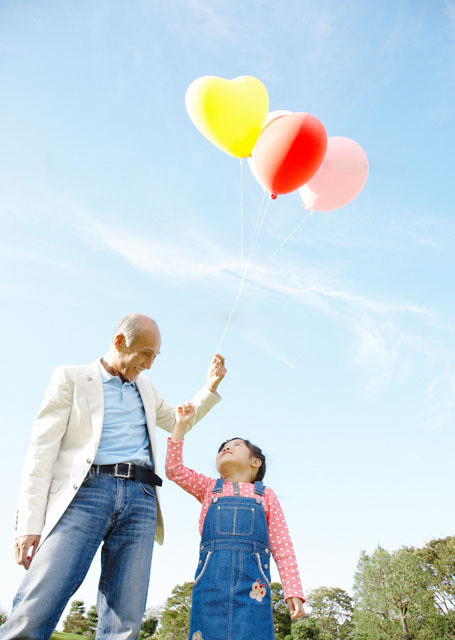
[{"label": "light blue polo shirt under the man's white blazer", "polygon": [[99,363],[104,419],[95,464],[131,462],[152,468],[144,405],[135,382],[123,382]]}]

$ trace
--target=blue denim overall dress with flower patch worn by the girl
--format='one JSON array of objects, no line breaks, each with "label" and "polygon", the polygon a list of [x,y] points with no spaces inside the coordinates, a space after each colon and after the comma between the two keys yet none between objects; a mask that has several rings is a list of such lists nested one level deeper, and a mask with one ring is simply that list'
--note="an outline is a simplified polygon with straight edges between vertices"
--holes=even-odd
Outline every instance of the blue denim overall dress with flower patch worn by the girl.
[{"label": "blue denim overall dress with flower patch worn by the girl", "polygon": [[202,529],[189,640],[273,640],[270,547],[260,496],[219,496],[219,478]]}]

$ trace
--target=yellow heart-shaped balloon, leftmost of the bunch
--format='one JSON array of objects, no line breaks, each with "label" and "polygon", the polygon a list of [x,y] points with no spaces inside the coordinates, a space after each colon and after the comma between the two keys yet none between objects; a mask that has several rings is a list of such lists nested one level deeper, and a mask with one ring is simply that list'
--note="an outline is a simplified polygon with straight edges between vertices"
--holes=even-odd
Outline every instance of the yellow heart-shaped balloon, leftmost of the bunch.
[{"label": "yellow heart-shaped balloon, leftmost of the bunch", "polygon": [[185,104],[202,135],[222,151],[245,158],[264,126],[269,96],[262,82],[252,76],[233,80],[203,76],[188,87]]}]

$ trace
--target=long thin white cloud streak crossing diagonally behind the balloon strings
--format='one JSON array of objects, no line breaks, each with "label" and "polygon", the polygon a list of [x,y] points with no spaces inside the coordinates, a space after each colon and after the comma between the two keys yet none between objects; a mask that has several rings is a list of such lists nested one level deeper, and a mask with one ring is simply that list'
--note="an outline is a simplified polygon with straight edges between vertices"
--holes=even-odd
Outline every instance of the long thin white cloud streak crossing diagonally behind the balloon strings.
[{"label": "long thin white cloud streak crossing diagonally behind the balloon strings", "polygon": [[[81,233],[87,241],[96,245],[101,242],[149,275],[170,279],[212,278],[224,280],[227,286],[240,282],[243,267],[239,260],[217,240],[199,230],[186,230],[184,237],[169,241],[159,235],[147,238],[133,230],[105,225],[83,211],[78,212],[78,218]],[[325,303],[330,301],[376,315],[408,314],[435,323],[441,319],[439,314],[422,305],[384,301],[354,293],[332,282],[325,271],[285,262],[272,269],[250,265],[246,284],[252,290],[275,292],[318,308],[327,308]]]}]

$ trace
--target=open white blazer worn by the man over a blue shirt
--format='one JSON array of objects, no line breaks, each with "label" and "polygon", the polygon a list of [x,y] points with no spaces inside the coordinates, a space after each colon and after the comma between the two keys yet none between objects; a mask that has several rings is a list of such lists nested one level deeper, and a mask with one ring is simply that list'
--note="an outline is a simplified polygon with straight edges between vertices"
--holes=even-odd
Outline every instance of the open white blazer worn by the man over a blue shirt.
[{"label": "open white blazer worn by the man over a blue shirt", "polygon": [[[155,426],[172,432],[175,414],[152,382],[136,381],[144,405],[155,473]],[[189,428],[217,402],[217,393],[203,387],[192,399],[196,414]],[[16,518],[16,537],[52,531],[79,490],[93,463],[103,428],[104,394],[99,360],[88,366],[62,366],[54,371],[32,429],[25,460]],[[158,491],[157,491],[158,498]],[[158,499],[155,539],[162,544],[163,517]]]}]

